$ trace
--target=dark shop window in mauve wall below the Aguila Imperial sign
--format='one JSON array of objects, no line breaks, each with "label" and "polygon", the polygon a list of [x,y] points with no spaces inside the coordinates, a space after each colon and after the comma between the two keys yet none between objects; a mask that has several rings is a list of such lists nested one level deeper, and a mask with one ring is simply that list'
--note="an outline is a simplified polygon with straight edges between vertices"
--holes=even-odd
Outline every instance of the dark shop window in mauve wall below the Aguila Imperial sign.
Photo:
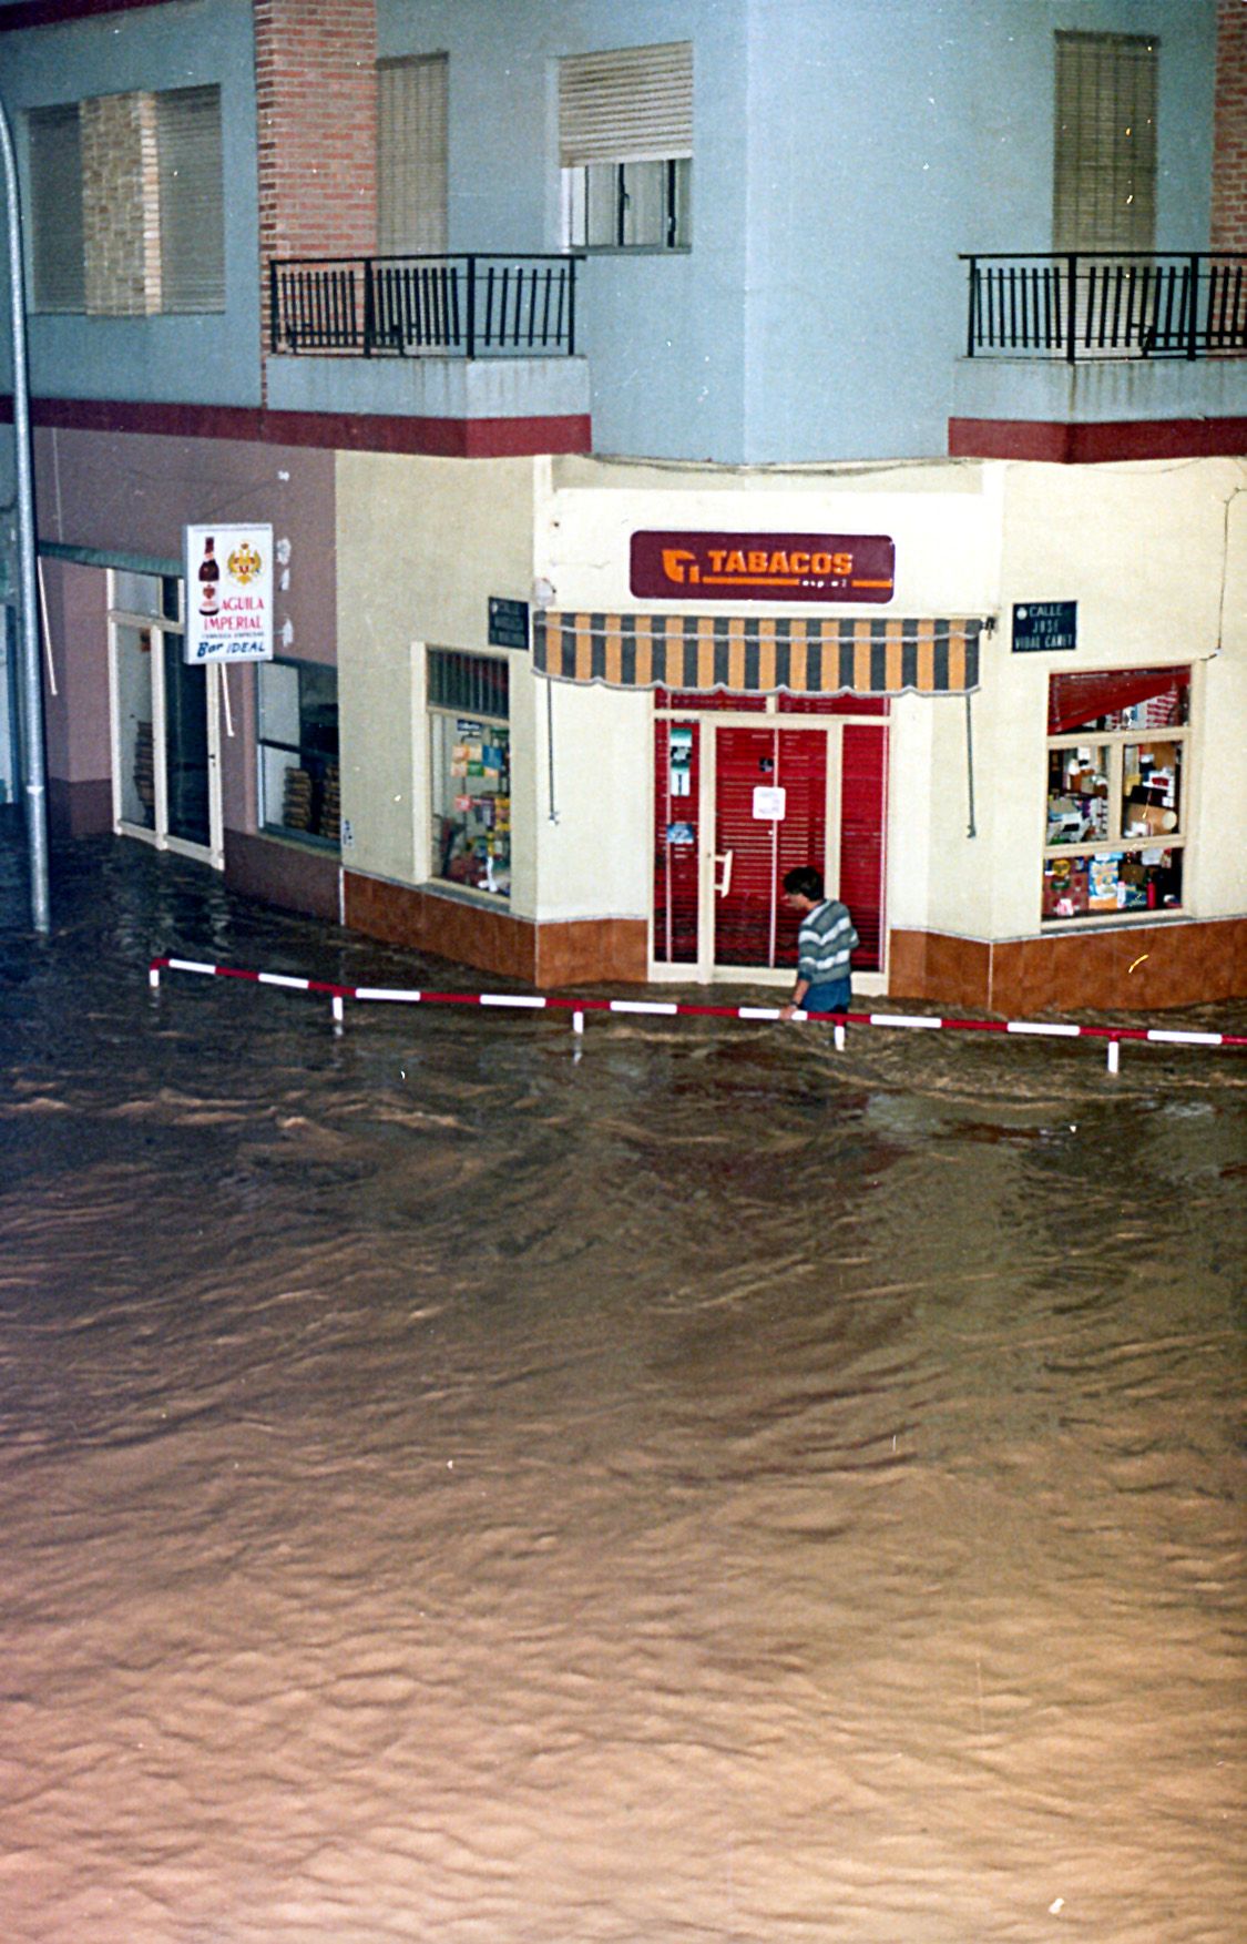
[{"label": "dark shop window in mauve wall below the Aguila Imperial sign", "polygon": [[319,661],[260,661],[260,828],[338,846],[338,671]]}]

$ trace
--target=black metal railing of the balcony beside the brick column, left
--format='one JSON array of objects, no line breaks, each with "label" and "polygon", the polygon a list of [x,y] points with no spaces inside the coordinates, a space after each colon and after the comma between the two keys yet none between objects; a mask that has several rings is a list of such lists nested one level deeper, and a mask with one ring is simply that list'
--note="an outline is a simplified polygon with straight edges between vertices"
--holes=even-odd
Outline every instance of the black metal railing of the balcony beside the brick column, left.
[{"label": "black metal railing of the balcony beside the brick column, left", "polygon": [[274,352],[571,358],[579,257],[301,257],[270,262]]}]

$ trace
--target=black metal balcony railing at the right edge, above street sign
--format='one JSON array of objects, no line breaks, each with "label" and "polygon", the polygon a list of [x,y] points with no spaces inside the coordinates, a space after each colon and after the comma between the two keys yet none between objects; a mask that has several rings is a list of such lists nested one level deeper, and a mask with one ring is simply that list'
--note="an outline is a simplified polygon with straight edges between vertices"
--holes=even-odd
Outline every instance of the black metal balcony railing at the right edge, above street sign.
[{"label": "black metal balcony railing at the right edge, above street sign", "polygon": [[969,257],[967,358],[1241,358],[1247,255]]}]

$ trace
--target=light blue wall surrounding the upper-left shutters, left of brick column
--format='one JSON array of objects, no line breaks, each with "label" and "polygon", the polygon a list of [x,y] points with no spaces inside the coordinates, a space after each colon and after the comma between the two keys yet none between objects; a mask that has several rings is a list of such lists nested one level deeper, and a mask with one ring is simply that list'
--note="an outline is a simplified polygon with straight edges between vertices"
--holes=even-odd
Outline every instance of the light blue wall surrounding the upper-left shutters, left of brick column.
[{"label": "light blue wall surrounding the upper-left shutters, left of brick column", "polygon": [[[29,325],[35,397],[258,402],[254,39],[249,0],[186,0],[0,35],[0,93],[23,175],[25,109],[214,82],[221,89],[227,309],[204,317],[35,315]],[[8,332],[0,385],[12,385]]]}]

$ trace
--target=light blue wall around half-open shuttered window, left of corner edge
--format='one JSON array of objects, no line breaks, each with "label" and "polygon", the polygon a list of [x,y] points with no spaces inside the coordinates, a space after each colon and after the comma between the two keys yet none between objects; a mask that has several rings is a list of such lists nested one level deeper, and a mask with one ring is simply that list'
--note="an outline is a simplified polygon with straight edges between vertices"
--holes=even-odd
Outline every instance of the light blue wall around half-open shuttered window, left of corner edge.
[{"label": "light blue wall around half-open shuttered window, left of corner edge", "polygon": [[594,257],[577,286],[602,451],[742,451],[746,19],[748,0],[377,4],[383,58],[449,56],[453,251],[559,247],[561,54],[693,41],[693,249]]}]

